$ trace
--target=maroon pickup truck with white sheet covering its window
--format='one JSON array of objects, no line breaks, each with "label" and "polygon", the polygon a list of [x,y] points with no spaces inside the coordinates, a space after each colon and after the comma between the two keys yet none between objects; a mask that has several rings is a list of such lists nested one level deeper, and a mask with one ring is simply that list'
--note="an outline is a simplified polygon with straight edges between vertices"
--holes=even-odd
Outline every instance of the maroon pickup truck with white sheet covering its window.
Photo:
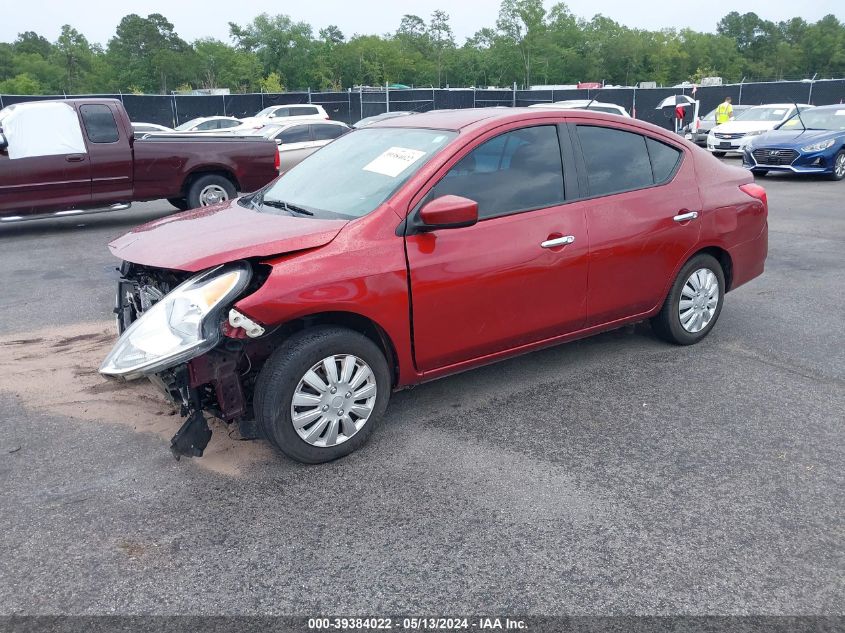
[{"label": "maroon pickup truck with white sheet covering its window", "polygon": [[134,138],[116,99],[11,105],[0,110],[0,222],[160,198],[207,206],[269,183],[278,156],[261,137]]}]

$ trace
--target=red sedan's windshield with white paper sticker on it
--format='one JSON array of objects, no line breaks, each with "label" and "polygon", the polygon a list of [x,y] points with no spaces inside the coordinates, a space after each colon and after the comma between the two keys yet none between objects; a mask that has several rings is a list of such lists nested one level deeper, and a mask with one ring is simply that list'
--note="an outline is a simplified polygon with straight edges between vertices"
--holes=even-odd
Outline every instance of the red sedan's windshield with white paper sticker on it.
[{"label": "red sedan's windshield with white paper sticker on it", "polygon": [[288,210],[304,209],[315,217],[359,218],[387,200],[455,136],[412,128],[357,130],[332,141],[247,201],[265,212],[285,203]]}]

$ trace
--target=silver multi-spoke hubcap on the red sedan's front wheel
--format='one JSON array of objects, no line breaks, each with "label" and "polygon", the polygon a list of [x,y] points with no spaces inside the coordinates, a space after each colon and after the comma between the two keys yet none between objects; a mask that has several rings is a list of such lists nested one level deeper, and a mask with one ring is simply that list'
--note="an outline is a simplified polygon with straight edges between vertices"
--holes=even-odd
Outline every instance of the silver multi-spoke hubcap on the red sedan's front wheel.
[{"label": "silver multi-spoke hubcap on the red sedan's front wheel", "polygon": [[342,444],[367,423],[377,395],[370,366],[351,354],[327,356],[309,369],[293,394],[293,428],[312,446]]}]

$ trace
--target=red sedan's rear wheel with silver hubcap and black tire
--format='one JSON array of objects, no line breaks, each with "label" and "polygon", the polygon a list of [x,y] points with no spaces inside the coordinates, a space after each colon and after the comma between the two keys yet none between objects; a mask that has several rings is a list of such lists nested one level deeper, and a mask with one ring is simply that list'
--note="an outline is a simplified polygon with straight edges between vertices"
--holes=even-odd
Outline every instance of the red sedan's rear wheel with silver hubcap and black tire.
[{"label": "red sedan's rear wheel with silver hubcap and black tire", "polygon": [[696,255],[681,268],[651,327],[669,343],[698,343],[716,324],[724,296],[722,266],[711,255]]}]

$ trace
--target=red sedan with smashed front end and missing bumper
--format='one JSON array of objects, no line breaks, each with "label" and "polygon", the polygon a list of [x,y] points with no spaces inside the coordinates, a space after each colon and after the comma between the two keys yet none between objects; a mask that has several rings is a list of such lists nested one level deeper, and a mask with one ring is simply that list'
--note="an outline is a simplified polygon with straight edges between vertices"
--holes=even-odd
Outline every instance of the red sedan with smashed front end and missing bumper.
[{"label": "red sedan with smashed front end and missing bumper", "polygon": [[208,412],[316,463],[361,446],[396,389],[644,319],[701,341],[763,272],[767,200],[634,119],[440,111],[111,249],[122,336],[100,371],[183,405],[174,453],[202,455]]}]

